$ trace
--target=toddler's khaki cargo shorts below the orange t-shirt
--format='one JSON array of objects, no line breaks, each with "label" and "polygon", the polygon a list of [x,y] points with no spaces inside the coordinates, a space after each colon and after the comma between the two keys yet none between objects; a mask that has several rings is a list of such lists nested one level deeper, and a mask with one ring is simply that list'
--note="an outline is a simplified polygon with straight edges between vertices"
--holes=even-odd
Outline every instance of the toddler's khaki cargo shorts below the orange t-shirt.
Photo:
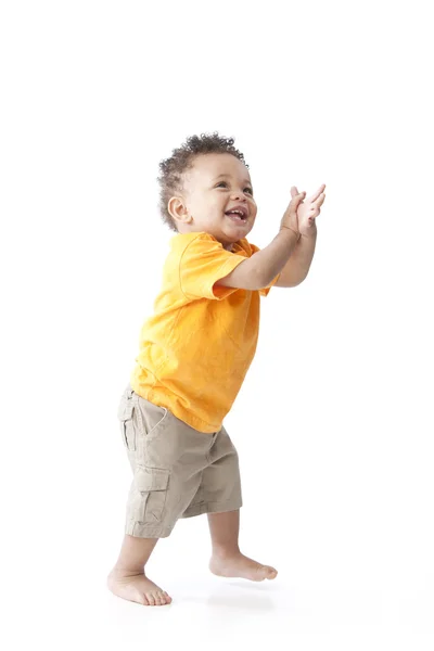
[{"label": "toddler's khaki cargo shorts below the orange t-shirt", "polygon": [[133,471],[126,534],[166,538],[179,518],[242,506],[238,454],[225,427],[197,432],[129,384],[117,416]]}]

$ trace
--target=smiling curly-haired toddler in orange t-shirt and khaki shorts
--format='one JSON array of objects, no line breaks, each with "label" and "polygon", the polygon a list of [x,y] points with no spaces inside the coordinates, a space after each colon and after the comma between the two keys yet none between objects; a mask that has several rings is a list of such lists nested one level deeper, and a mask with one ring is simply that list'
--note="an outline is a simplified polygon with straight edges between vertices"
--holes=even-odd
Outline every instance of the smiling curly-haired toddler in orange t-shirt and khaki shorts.
[{"label": "smiling curly-haired toddler in orange t-shirt and khaki shorts", "polygon": [[233,142],[193,136],[159,164],[161,210],[177,235],[120,399],[133,481],[124,542],[107,578],[112,592],[144,605],[171,602],[144,566],[179,518],[207,513],[214,574],[277,576],[239,549],[238,455],[222,421],[255,354],[259,296],[307,276],[326,186],[306,203],[306,193],[292,188],[277,237],[259,251],[246,240],[257,208]]}]

